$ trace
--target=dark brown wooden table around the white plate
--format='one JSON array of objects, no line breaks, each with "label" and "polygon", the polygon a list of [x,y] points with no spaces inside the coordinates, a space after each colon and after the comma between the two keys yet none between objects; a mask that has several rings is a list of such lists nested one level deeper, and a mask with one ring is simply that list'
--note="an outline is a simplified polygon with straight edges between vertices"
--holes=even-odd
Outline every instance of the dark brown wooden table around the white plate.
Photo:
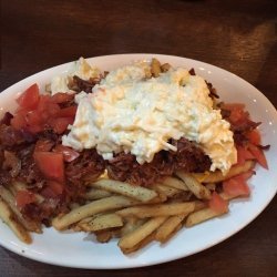
[{"label": "dark brown wooden table around the white plate", "polygon": [[[81,55],[146,52],[224,68],[257,86],[277,106],[275,0],[1,2],[0,91]],[[0,276],[277,276],[276,208],[275,197],[232,238],[163,265],[80,270],[32,261],[0,248]]]}]

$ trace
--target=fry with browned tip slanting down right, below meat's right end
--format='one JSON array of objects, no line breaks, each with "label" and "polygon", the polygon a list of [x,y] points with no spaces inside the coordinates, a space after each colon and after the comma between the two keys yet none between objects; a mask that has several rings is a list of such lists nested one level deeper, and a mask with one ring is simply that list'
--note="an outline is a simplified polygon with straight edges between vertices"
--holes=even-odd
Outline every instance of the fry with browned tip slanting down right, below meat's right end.
[{"label": "fry with browned tip slanting down right, below meat's right end", "polygon": [[194,178],[192,175],[186,174],[184,172],[177,172],[176,173],[179,178],[182,178],[189,191],[199,199],[209,199],[211,198],[211,192],[202,185],[196,178]]}]

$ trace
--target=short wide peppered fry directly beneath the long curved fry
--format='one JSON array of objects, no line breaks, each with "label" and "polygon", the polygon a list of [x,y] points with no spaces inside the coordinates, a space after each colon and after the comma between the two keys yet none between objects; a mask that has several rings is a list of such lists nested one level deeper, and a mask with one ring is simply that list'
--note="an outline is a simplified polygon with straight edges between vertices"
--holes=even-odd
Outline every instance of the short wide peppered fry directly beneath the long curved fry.
[{"label": "short wide peppered fry directly beneath the long curved fry", "polygon": [[121,226],[123,226],[122,217],[116,214],[99,215],[93,217],[90,222],[80,225],[85,232],[96,232]]}]

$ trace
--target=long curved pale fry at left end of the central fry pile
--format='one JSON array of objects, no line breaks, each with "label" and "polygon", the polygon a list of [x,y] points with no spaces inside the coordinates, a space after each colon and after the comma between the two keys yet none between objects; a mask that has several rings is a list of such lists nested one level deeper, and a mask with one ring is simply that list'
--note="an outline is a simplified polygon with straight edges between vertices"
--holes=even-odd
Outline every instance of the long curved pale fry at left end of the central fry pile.
[{"label": "long curved pale fry at left end of the central fry pile", "polygon": [[55,217],[52,220],[52,226],[55,229],[64,229],[68,226],[70,226],[73,223],[80,222],[81,219],[99,214],[99,213],[103,213],[103,212],[107,212],[114,208],[122,208],[122,207],[127,207],[131,205],[135,205],[137,204],[136,201],[124,197],[124,196],[111,196],[111,197],[106,197],[106,198],[102,198],[99,201],[94,201],[90,204],[86,204],[84,206],[80,206],[75,209],[72,209],[69,214],[65,214],[64,216],[60,217]]}]

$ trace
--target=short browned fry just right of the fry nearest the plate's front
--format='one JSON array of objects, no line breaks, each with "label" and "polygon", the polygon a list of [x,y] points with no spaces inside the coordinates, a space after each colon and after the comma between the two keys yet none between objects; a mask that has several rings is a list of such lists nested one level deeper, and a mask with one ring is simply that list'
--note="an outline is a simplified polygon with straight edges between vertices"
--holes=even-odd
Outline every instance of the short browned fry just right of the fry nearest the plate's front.
[{"label": "short browned fry just right of the fry nearest the plate's front", "polygon": [[162,244],[166,243],[175,229],[181,226],[181,223],[185,219],[186,215],[175,215],[168,217],[156,230],[155,239]]}]

